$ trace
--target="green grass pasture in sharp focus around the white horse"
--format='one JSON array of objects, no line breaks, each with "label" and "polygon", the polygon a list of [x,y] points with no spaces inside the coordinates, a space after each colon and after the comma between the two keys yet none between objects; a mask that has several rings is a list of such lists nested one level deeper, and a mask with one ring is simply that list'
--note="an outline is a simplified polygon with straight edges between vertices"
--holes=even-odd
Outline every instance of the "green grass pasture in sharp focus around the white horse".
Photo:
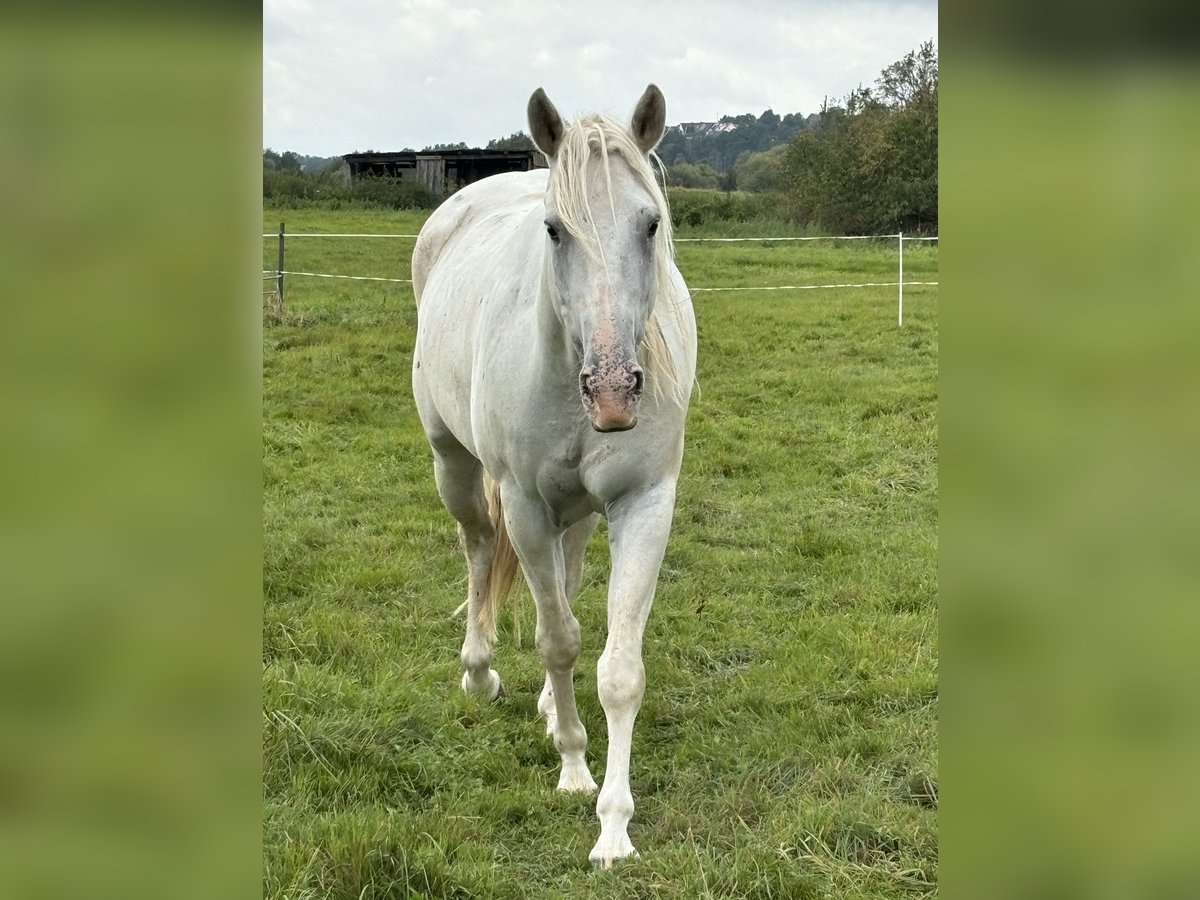
[{"label": "green grass pasture in sharp focus around the white horse", "polygon": [[[268,210],[264,232],[422,218]],[[408,277],[410,248],[295,239],[287,268]],[[895,280],[894,241],[678,257],[692,287]],[[906,247],[905,276],[936,281],[936,245]],[[906,289],[902,329],[895,288],[696,294],[700,389],[634,733],[642,857],[612,872],[588,865],[594,798],[554,791],[527,596],[522,646],[502,616],[506,698],[458,690],[466,569],[409,394],[412,290],[286,293],[263,328],[265,896],[936,894],[936,287]],[[598,781],[606,564],[601,526],[575,606]]]}]

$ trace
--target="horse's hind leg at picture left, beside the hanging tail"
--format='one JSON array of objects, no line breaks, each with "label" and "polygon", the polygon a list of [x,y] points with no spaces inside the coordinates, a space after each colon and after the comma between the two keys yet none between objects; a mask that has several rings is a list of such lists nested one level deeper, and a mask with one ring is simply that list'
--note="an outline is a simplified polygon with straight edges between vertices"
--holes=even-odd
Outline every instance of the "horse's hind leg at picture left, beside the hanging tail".
[{"label": "horse's hind leg at picture left, beside the hanging tail", "polygon": [[457,442],[433,445],[433,474],[442,502],[458,522],[467,557],[467,636],[462,644],[462,689],[496,700],[504,685],[492,668],[494,622],[488,616],[488,577],[496,548],[496,527],[487,511],[484,467]]}]

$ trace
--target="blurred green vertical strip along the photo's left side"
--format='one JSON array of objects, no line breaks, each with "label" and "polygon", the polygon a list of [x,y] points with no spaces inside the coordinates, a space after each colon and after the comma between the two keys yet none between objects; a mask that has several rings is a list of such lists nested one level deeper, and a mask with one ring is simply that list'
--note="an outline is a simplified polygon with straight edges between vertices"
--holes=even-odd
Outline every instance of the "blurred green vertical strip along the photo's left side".
[{"label": "blurred green vertical strip along the photo's left side", "polygon": [[0,894],[259,887],[259,17],[0,13]]}]

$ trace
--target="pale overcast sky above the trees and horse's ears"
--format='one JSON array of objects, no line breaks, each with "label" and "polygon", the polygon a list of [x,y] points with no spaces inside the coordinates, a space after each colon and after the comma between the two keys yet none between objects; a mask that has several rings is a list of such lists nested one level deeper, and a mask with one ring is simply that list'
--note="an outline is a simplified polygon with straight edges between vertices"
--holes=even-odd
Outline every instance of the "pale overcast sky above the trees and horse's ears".
[{"label": "pale overcast sky above the trees and horse's ears", "polygon": [[815,113],[937,40],[936,0],[265,0],[263,146],[340,156],[484,146],[564,118]]}]

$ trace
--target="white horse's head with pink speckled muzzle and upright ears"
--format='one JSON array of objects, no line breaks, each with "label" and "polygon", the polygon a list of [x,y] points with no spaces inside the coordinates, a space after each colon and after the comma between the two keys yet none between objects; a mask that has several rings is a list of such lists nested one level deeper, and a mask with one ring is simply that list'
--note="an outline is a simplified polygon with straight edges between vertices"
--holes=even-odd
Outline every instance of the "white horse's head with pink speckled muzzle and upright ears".
[{"label": "white horse's head with pink speckled muzzle and upright ears", "polygon": [[547,284],[578,356],[580,397],[593,428],[628,431],[646,385],[637,350],[656,328],[650,317],[671,258],[671,217],[650,166],[666,101],[652,84],[629,126],[604,115],[564,125],[539,88],[528,116],[550,164]]}]

